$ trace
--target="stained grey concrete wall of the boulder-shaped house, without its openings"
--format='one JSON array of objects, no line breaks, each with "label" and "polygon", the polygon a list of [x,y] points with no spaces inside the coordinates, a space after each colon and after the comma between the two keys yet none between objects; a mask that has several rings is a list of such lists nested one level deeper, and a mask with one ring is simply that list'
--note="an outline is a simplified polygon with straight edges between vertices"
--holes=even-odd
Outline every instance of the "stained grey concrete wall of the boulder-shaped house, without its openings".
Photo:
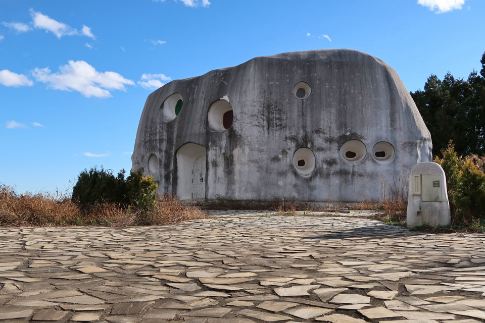
[{"label": "stained grey concrete wall of the boulder-shaped house, without its openings", "polygon": [[[311,87],[307,98],[295,95],[299,82]],[[180,93],[183,107],[164,122],[161,106],[173,93]],[[208,111],[221,98],[232,106],[233,124],[214,132]],[[356,164],[340,153],[349,140],[366,148]],[[381,141],[394,147],[391,160],[373,154]],[[399,76],[382,61],[348,49],[259,57],[164,85],[144,105],[132,169],[152,174],[161,193],[176,194],[176,154],[186,143],[207,149],[206,199],[381,199],[383,191],[407,182],[416,163],[431,160],[429,131]],[[315,155],[309,176],[293,162],[303,147]],[[158,158],[155,171],[148,167],[152,154]]]}]

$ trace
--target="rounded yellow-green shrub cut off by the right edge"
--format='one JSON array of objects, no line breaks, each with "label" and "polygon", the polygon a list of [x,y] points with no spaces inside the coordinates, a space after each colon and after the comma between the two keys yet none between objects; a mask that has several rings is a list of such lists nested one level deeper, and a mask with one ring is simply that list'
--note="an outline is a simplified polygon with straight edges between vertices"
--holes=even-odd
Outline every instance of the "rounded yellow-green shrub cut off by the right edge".
[{"label": "rounded yellow-green shrub cut off by the right edge", "polygon": [[485,174],[476,168],[470,156],[465,158],[458,174],[454,200],[457,215],[463,220],[485,219]]}]

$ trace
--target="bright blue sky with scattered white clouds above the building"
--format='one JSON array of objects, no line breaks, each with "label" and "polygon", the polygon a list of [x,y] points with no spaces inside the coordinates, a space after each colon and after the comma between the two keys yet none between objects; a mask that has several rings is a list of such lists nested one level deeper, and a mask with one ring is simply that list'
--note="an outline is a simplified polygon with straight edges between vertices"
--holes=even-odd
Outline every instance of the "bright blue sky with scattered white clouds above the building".
[{"label": "bright blue sky with scattered white clouds above the building", "polygon": [[408,90],[466,78],[485,51],[483,0],[0,0],[0,183],[72,188],[131,168],[147,96],[281,52],[351,48]]}]

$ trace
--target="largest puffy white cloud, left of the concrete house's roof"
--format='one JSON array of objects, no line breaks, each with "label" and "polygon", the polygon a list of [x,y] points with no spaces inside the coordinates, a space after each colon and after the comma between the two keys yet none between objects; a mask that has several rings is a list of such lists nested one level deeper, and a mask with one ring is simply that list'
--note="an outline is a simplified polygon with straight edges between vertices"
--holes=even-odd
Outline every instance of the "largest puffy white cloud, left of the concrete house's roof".
[{"label": "largest puffy white cloud, left of the concrete house's roof", "polygon": [[51,73],[48,67],[35,68],[32,75],[37,81],[47,83],[53,89],[74,90],[86,97],[110,97],[108,90],[126,91],[126,84],[135,85],[132,80],[125,79],[118,73],[100,73],[84,61],[69,61],[69,64],[59,67],[59,72],[56,73]]}]

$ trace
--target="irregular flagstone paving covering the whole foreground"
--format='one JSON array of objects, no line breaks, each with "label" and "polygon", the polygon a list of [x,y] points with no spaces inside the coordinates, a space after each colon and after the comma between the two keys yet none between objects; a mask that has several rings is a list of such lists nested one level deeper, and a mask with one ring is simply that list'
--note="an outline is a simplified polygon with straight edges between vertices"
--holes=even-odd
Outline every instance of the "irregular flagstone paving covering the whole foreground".
[{"label": "irregular flagstone paving covering the whole foreground", "polygon": [[0,232],[2,322],[485,320],[483,235],[251,212]]}]

